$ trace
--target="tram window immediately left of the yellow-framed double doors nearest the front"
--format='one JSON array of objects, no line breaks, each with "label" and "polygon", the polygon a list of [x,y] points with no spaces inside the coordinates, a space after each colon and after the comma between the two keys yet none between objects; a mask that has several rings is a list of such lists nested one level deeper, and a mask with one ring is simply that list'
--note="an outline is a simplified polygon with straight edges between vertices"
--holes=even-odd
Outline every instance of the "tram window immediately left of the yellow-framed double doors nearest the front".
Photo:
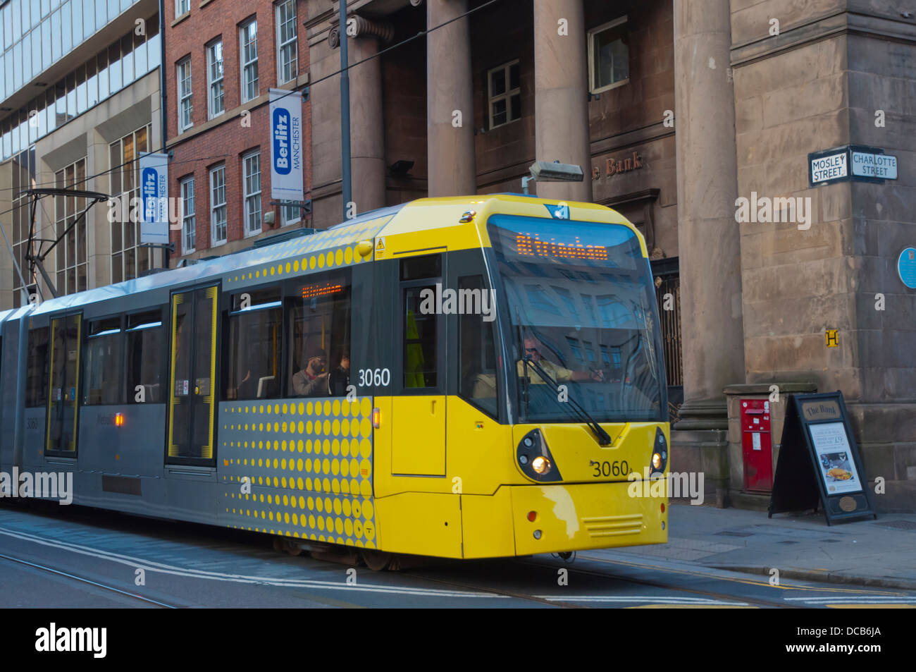
[{"label": "tram window immediately left of the yellow-framed double doors nearest the front", "polygon": [[[164,403],[162,311],[127,315],[125,394],[128,403]],[[142,390],[142,392],[141,392]]]}]

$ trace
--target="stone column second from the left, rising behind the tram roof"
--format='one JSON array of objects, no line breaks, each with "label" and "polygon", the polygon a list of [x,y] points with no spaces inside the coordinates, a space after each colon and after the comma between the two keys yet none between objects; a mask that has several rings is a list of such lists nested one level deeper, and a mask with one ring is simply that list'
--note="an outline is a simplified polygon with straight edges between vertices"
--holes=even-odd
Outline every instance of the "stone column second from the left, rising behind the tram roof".
[{"label": "stone column second from the left, rising behind the tram roof", "polygon": [[[429,0],[427,28],[439,26],[466,11],[467,0]],[[426,83],[429,194],[474,194],[477,192],[474,100],[467,18],[427,34]],[[461,126],[455,126],[456,112],[461,113]]]}]

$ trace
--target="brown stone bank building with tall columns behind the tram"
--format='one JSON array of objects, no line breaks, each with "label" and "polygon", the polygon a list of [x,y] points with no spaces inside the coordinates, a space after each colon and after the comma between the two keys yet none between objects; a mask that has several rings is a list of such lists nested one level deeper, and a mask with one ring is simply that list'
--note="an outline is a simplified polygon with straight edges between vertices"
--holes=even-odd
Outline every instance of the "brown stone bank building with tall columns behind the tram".
[{"label": "brown stone bank building with tall columns behind the tram", "polygon": [[[916,19],[898,5],[355,0],[355,209],[520,192],[533,160],[582,165],[591,180],[536,191],[615,207],[647,237],[660,305],[675,300],[660,311],[683,400],[673,468],[760,505],[726,387],[841,390],[885,482],[878,509],[916,509],[916,290],[897,270],[916,245]],[[322,227],[342,212],[337,6],[305,7]],[[849,145],[894,155],[897,178],[810,180],[808,154]],[[758,196],[801,198],[807,223],[737,222]]]}]

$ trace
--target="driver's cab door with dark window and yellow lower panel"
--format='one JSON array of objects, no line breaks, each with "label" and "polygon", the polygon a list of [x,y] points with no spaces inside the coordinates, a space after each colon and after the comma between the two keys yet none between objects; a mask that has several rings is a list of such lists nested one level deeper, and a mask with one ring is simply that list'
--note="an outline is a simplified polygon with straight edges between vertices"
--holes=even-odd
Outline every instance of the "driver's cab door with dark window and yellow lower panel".
[{"label": "driver's cab door with dark window and yellow lower panel", "polygon": [[436,308],[442,255],[401,259],[399,290],[402,379],[391,408],[391,472],[445,476],[445,323]]}]

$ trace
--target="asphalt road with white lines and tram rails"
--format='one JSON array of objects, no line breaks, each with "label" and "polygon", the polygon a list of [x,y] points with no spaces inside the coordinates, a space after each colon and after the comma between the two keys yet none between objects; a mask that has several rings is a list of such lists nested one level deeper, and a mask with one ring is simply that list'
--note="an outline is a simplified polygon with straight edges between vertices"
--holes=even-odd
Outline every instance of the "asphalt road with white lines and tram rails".
[{"label": "asphalt road with white lines and tram rails", "polygon": [[82,507],[0,505],[0,607],[823,608],[916,592],[782,580],[631,554],[442,561],[398,572],[288,556],[272,540]]}]

